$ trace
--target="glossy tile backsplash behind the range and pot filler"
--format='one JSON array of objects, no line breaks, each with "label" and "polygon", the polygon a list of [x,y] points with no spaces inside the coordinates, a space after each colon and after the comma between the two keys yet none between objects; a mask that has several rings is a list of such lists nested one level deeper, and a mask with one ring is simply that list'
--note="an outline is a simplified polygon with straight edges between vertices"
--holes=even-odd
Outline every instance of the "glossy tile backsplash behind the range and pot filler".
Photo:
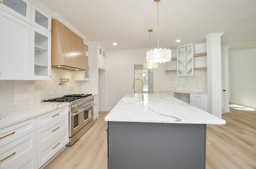
[{"label": "glossy tile backsplash behind the range and pot filler", "polygon": [[[69,79],[59,85],[60,77]],[[0,81],[0,111],[40,103],[46,98],[81,93],[81,82],[74,81],[74,71],[52,68],[50,81]],[[14,106],[14,99],[19,105]]]}]

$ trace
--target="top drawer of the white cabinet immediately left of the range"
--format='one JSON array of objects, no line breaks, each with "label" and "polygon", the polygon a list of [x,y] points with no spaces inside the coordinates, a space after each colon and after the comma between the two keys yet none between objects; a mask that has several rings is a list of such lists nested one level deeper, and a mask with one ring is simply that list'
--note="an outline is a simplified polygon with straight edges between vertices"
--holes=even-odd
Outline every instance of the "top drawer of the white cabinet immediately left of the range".
[{"label": "top drawer of the white cabinet immediately left of the range", "polygon": [[68,115],[68,106],[36,117],[36,129]]}]

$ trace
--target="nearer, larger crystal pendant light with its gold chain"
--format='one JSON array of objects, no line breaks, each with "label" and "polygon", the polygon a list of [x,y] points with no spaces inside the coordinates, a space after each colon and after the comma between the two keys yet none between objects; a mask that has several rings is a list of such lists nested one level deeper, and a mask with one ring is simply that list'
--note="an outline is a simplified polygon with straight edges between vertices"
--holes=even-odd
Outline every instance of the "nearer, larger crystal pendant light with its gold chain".
[{"label": "nearer, larger crystal pendant light with its gold chain", "polygon": [[171,61],[171,49],[159,48],[159,6],[160,0],[154,0],[157,2],[157,41],[158,48],[150,49],[146,52],[146,60],[151,63],[165,63]]}]

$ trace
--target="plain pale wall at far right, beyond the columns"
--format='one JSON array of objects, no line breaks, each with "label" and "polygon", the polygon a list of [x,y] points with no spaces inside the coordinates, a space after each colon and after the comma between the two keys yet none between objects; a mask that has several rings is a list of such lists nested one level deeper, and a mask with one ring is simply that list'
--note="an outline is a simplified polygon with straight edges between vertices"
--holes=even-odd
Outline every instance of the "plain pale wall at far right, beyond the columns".
[{"label": "plain pale wall at far right, beyond the columns", "polygon": [[230,102],[256,108],[256,48],[229,48]]}]

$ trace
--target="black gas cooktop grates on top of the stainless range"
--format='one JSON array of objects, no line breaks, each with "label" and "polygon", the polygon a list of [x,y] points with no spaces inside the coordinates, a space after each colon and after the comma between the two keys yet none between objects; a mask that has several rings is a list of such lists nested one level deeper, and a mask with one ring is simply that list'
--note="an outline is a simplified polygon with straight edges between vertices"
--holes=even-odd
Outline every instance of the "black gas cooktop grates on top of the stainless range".
[{"label": "black gas cooktop grates on top of the stainless range", "polygon": [[48,98],[44,102],[74,102],[75,100],[92,96],[92,94],[68,94],[62,97]]}]

